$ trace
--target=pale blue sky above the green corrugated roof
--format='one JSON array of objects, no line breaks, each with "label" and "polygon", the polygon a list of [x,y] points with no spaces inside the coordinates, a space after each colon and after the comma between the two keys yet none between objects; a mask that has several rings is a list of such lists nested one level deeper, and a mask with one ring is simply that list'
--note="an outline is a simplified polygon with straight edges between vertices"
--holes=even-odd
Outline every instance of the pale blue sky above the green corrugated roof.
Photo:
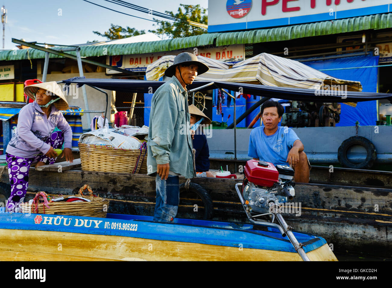
[{"label": "pale blue sky above the green corrugated roof", "polygon": [[[152,15],[135,11],[104,0],[89,0],[134,16],[152,20]],[[196,5],[208,8],[208,0],[126,0],[135,5],[164,13],[176,12],[180,4]],[[87,41],[103,41],[93,31],[103,33],[110,24],[129,26],[138,30],[154,29],[155,22],[138,19],[98,7],[83,0],[2,0],[1,6],[7,9],[5,24],[4,49],[15,49],[16,43],[11,38],[25,39],[27,42],[49,44],[82,44]],[[157,17],[155,17],[157,18]],[[163,18],[158,18],[163,20]],[[156,23],[155,23],[156,24]],[[0,30],[0,35],[2,29]],[[0,41],[2,49],[2,41]]]}]

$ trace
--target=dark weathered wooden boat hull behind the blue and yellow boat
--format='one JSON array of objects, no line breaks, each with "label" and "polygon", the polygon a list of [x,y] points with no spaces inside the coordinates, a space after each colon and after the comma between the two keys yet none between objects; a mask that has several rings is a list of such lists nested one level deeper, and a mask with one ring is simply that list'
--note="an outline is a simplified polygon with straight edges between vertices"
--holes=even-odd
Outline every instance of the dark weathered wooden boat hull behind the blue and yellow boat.
[{"label": "dark weathered wooden boat hull behind the blue and yellow boat", "polygon": [[[385,178],[385,183],[387,179]],[[8,185],[6,170],[1,181],[3,183],[0,184]],[[183,181],[185,179],[180,178],[180,182]],[[211,219],[236,223],[247,221],[234,189],[234,185],[240,181],[192,179],[192,182],[205,188],[212,198]],[[100,196],[111,200],[111,213],[144,216],[153,214],[155,181],[143,174],[65,170],[64,167],[63,172],[59,173],[57,166],[51,171],[38,172],[31,168],[26,200],[41,190],[53,195],[74,194],[85,183],[93,186],[94,192]],[[295,190],[294,199],[301,203],[301,216],[283,214],[294,230],[320,235],[328,244],[333,245],[334,252],[392,257],[392,189],[297,183]],[[182,191],[178,217],[203,219],[204,216],[205,203],[202,199],[194,193]]]}]

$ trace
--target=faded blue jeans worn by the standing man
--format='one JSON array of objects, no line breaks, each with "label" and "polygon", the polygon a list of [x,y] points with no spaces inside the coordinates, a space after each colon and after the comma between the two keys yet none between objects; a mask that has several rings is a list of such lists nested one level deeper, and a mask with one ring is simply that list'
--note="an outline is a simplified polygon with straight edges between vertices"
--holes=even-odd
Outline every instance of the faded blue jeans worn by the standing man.
[{"label": "faded blue jeans worn by the standing man", "polygon": [[153,221],[172,222],[177,215],[180,203],[180,190],[178,176],[169,175],[167,180],[156,174],[156,198]]}]

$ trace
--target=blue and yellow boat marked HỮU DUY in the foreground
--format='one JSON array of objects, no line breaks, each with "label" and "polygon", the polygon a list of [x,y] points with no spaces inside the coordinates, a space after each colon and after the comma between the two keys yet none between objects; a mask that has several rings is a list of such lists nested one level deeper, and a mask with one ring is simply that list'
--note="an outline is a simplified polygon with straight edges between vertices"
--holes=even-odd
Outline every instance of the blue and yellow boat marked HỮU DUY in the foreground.
[{"label": "blue and yellow boat marked H\u1eeeU DUY in the foreground", "polygon": [[[157,223],[151,216],[121,214],[95,218],[0,213],[0,233],[4,261],[302,260],[277,229],[217,221]],[[311,261],[337,261],[325,239],[294,234]]]}]

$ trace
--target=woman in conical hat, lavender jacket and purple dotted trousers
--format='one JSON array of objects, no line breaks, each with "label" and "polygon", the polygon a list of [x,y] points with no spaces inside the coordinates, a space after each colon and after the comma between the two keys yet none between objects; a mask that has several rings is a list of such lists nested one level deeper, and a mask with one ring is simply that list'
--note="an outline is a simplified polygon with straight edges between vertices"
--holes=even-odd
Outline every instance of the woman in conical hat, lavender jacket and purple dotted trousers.
[{"label": "woman in conical hat, lavender jacket and purple dotted trousers", "polygon": [[[19,111],[18,125],[7,145],[6,161],[11,183],[11,196],[7,201],[9,212],[18,212],[29,181],[29,168],[53,164],[64,143],[62,158],[73,161],[71,151],[72,130],[60,110],[67,110],[61,87],[56,82],[45,82],[24,88],[29,98],[35,100]],[[55,128],[58,127],[58,129]]]}]

